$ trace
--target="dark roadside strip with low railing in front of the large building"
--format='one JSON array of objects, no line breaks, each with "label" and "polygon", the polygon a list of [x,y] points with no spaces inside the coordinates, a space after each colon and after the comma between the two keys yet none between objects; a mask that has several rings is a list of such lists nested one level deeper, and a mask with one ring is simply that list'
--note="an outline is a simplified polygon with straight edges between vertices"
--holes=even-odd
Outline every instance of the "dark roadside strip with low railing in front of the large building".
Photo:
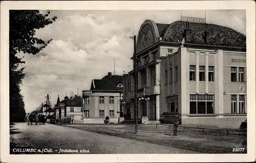
[{"label": "dark roadside strip with low railing in front of the large building", "polygon": [[201,153],[233,153],[233,148],[245,148],[247,152],[246,135],[203,135],[195,132],[183,132],[178,130],[178,136],[171,136],[173,129],[169,126],[138,125],[138,133],[135,134],[133,124],[61,124],[62,126],[78,128],[82,130],[113,135],[126,139],[133,139],[158,145],[172,146],[180,149],[197,151]]}]

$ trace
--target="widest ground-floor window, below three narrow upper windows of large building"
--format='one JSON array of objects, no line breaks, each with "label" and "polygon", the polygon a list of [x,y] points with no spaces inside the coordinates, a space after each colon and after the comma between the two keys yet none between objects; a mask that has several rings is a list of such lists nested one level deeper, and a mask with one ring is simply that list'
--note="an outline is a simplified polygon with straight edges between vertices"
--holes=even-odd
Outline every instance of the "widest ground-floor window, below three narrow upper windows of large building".
[{"label": "widest ground-floor window, below three narrow upper windows of large building", "polygon": [[214,114],[214,95],[190,95],[190,114]]}]

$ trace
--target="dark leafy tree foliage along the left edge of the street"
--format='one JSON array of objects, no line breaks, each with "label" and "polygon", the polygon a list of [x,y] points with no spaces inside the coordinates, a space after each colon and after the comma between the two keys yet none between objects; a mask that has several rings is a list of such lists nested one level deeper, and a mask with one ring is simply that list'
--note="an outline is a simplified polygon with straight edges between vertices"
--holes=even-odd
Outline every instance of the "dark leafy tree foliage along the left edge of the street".
[{"label": "dark leafy tree foliage along the left edge of the street", "polygon": [[20,84],[25,77],[25,61],[19,58],[20,52],[36,55],[50,40],[35,37],[36,30],[53,23],[57,17],[48,18],[50,11],[41,14],[39,10],[10,10],[9,12],[9,76],[10,76],[10,122],[24,120],[25,104],[20,94]]}]

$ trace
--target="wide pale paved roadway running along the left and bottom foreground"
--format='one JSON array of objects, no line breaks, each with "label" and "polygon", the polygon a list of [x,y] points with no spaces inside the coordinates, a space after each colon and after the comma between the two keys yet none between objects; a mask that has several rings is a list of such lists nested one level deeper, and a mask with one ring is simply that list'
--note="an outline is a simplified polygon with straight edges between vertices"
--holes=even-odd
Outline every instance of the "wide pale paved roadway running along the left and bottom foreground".
[{"label": "wide pale paved roadway running along the left and bottom foreground", "polygon": [[84,153],[80,149],[86,149],[92,154],[196,153],[53,124],[15,123],[10,130],[10,140],[16,144],[15,148],[52,149],[49,154],[56,154],[59,149],[77,149],[79,153]]}]

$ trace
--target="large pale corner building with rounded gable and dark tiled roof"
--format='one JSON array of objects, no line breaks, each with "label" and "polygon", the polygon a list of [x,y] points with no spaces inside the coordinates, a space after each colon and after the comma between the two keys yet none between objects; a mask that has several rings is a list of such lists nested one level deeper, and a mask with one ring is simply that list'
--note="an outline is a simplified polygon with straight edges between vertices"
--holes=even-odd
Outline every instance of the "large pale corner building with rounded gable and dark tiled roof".
[{"label": "large pale corner building with rounded gable and dark tiled roof", "polygon": [[[145,20],[136,53],[138,117],[145,123],[164,112],[178,112],[182,124],[228,128],[246,119],[245,35],[216,24]],[[135,119],[134,70],[123,83],[124,114]]]}]

